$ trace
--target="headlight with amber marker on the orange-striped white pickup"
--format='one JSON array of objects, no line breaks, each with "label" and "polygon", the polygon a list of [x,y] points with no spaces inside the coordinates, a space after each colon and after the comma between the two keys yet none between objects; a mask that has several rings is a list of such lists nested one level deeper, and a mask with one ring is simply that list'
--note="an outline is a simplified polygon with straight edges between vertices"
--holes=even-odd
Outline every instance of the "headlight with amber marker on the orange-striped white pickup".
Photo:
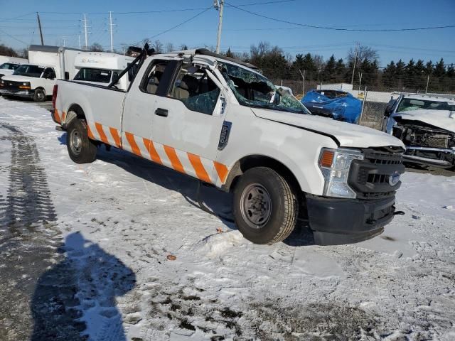
[{"label": "headlight with amber marker on the orange-striped white pickup", "polygon": [[325,180],[323,195],[355,198],[355,192],[348,185],[350,164],[354,160],[363,160],[363,153],[355,149],[322,148],[319,168]]}]

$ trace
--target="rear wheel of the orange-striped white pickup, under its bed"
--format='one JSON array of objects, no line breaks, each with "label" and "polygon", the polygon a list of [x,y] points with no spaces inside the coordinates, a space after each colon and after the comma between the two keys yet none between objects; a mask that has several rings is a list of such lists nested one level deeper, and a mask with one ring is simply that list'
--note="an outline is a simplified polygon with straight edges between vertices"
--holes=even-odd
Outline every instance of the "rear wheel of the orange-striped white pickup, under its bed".
[{"label": "rear wheel of the orange-striped white pickup, under its bed", "polygon": [[88,138],[87,123],[82,119],[70,121],[66,131],[66,147],[75,163],[90,163],[97,158],[97,146]]}]

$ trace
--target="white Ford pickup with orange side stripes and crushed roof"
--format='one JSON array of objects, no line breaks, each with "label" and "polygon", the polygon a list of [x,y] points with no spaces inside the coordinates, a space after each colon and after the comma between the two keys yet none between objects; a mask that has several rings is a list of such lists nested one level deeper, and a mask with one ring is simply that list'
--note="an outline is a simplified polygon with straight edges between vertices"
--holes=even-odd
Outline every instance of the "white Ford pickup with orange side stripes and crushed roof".
[{"label": "white Ford pickup with orange side stripes and crushed roof", "polygon": [[316,244],[359,242],[400,213],[400,140],[311,115],[253,65],[146,51],[127,91],[58,80],[52,117],[76,163],[106,144],[232,191],[235,223],[257,244],[287,238],[298,217]]}]

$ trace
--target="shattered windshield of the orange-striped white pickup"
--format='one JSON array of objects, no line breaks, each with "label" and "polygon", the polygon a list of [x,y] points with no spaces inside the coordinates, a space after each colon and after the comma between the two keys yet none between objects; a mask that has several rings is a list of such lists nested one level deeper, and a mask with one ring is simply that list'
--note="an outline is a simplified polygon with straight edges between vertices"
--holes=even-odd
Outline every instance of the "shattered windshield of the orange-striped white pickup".
[{"label": "shattered windshield of the orange-striped white pickup", "polygon": [[243,67],[218,62],[220,72],[240,104],[246,107],[281,110],[295,114],[310,114],[298,99],[266,77]]}]

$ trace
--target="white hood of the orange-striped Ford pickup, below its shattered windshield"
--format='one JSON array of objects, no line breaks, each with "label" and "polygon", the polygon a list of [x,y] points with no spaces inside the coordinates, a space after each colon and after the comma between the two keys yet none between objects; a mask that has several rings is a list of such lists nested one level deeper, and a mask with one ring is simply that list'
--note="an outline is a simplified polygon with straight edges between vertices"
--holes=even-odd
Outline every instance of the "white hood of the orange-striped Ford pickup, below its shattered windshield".
[{"label": "white hood of the orange-striped Ford pickup, below its shattered windshield", "polygon": [[343,147],[400,146],[405,148],[405,145],[399,139],[382,131],[367,128],[366,126],[358,126],[357,124],[335,121],[310,114],[292,114],[290,112],[280,112],[270,109],[252,108],[252,112],[262,119],[289,124],[313,131],[317,134],[331,136],[338,140],[340,146]]}]

